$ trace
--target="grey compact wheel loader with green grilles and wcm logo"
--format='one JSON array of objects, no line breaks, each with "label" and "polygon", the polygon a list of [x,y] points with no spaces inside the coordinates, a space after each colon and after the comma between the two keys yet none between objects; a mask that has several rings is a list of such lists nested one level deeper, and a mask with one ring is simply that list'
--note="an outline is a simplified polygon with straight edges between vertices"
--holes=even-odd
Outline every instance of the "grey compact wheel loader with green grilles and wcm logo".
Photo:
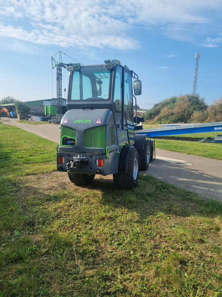
[{"label": "grey compact wheel loader with green grilles and wcm logo", "polygon": [[113,174],[116,187],[135,187],[139,170],[148,169],[155,150],[146,134],[136,133],[144,121],[133,110],[135,96],[141,94],[138,75],[119,60],[70,64],[67,70],[68,111],[60,122],[57,170],[67,171],[79,186],[91,183],[96,174]]}]

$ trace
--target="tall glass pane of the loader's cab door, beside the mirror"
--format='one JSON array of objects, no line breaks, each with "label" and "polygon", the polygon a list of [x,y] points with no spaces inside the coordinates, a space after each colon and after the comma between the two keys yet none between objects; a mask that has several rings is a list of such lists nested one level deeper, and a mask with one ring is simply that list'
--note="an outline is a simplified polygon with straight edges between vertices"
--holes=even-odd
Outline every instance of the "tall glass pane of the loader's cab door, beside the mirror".
[{"label": "tall glass pane of the loader's cab door, beside the mirror", "polygon": [[129,72],[124,73],[124,113],[128,122],[133,124],[132,79]]}]

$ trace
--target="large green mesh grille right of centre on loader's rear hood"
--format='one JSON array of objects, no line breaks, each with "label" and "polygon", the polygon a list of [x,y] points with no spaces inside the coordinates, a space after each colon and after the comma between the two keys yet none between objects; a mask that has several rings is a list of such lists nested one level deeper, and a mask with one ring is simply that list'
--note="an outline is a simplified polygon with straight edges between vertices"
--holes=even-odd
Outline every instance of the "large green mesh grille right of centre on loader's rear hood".
[{"label": "large green mesh grille right of centre on loader's rear hood", "polygon": [[105,148],[106,126],[88,129],[84,133],[84,146],[86,148]]}]

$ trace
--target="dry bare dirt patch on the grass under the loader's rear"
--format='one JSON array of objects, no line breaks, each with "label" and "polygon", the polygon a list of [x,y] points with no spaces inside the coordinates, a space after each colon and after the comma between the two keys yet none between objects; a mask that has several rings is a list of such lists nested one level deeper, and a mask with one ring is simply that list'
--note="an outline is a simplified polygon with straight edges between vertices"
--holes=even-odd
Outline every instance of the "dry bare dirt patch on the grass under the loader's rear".
[{"label": "dry bare dirt patch on the grass under the loader's rear", "polygon": [[[37,175],[28,175],[25,178],[23,177],[19,183],[20,185],[25,186],[29,192],[50,192],[51,194],[56,194],[58,191],[71,189],[81,189],[81,192],[87,192],[88,189],[104,189],[107,187],[114,187],[113,175],[96,175],[91,184],[79,187],[69,180],[67,172],[58,171],[41,173]],[[33,189],[32,191],[30,191],[31,188]]]}]

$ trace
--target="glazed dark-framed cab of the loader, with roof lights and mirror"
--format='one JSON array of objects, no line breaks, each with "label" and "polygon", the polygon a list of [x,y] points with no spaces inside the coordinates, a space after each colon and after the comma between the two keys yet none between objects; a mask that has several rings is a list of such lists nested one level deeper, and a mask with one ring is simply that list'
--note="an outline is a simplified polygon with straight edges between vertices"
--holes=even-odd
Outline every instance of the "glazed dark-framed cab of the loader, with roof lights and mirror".
[{"label": "glazed dark-framed cab of the loader, with roof lights and mirror", "polygon": [[[67,67],[67,70],[72,68]],[[141,81],[118,60],[105,64],[78,65],[70,72],[67,108],[112,110],[119,141],[134,144],[134,94],[141,94]]]}]

